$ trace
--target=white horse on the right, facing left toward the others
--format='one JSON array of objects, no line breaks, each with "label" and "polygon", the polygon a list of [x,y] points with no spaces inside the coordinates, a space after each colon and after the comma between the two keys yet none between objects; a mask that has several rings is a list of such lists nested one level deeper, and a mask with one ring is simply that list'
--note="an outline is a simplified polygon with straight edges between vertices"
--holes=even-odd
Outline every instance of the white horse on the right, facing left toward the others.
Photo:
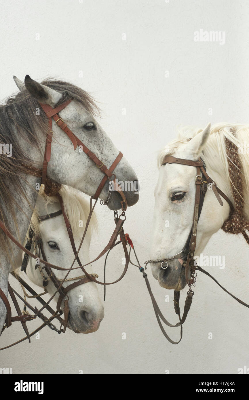
[{"label": "white horse on the right, facing left toward the others", "polygon": [[[192,138],[191,140],[188,140]],[[199,156],[205,162],[207,174],[217,187],[235,205],[229,177],[229,165],[225,138],[235,144],[241,169],[234,166],[234,173],[241,176],[244,189],[243,213],[249,220],[249,126],[242,124],[217,124],[204,130],[183,128],[179,138],[170,142],[158,158],[159,179],[155,188],[155,211],[151,260],[162,260],[179,254],[183,249],[193,223],[195,204],[196,167],[181,164],[161,166],[165,155],[196,161]],[[195,256],[200,256],[211,236],[223,226],[229,216],[229,204],[219,204],[213,190],[207,190],[197,228]],[[168,261],[167,261],[168,262]],[[161,268],[160,262],[151,263],[151,270],[160,286],[181,290],[186,285],[185,268],[181,258],[168,262],[168,268]]]}]

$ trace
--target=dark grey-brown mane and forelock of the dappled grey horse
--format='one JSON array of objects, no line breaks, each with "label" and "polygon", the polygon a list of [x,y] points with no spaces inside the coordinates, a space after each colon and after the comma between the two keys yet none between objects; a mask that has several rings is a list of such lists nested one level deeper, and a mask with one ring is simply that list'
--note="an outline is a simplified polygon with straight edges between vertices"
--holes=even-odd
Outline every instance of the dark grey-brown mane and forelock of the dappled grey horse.
[{"label": "dark grey-brown mane and forelock of the dappled grey horse", "polygon": [[[92,115],[99,114],[98,107],[93,98],[77,86],[54,78],[48,78],[41,83],[62,93],[62,97],[56,106],[73,98],[86,108],[86,110],[91,112]],[[36,114],[37,109],[40,110],[39,115]],[[0,105],[0,144],[16,144],[20,138],[29,143],[30,146],[35,146],[41,153],[37,132],[41,132],[45,142],[47,128],[48,119],[44,111],[40,107],[38,100],[33,98],[26,88],[22,89],[15,96],[10,96],[7,98],[5,104]],[[12,157],[0,154],[0,219],[8,227],[8,221],[4,213],[4,209],[8,208],[16,225],[17,232],[18,224],[14,206],[19,210],[20,206],[9,190],[9,185],[11,183],[18,196],[24,198],[29,204],[22,184],[24,179],[23,173],[25,172],[23,164],[30,164],[30,156],[25,154],[18,145],[12,146]],[[36,167],[35,163],[33,164]],[[34,191],[35,189],[30,187],[30,190]],[[2,231],[0,232],[0,247],[4,252],[8,252],[8,241]]]}]

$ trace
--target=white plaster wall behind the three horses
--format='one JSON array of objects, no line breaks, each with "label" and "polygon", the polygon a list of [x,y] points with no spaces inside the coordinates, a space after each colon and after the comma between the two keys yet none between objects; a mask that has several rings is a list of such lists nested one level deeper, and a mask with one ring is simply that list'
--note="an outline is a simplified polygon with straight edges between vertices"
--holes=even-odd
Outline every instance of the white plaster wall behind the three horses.
[{"label": "white plaster wall behind the three horses", "polygon": [[[127,212],[125,231],[144,262],[149,257],[157,153],[175,137],[175,126],[249,120],[249,3],[1,0],[0,12],[1,98],[16,91],[12,75],[24,79],[29,74],[37,80],[63,78],[101,102],[102,126],[140,179],[140,200]],[[225,31],[225,44],[194,42],[200,29]],[[98,214],[100,233],[92,242],[92,255],[113,230],[112,212],[99,206]],[[225,269],[212,267],[211,273],[248,303],[245,241],[218,232],[206,252],[226,255]],[[108,279],[120,273],[121,257],[121,250],[112,255]],[[94,271],[103,278],[103,262]],[[160,288],[150,271],[149,278],[159,306],[177,322],[173,292]],[[107,287],[98,332],[76,335],[68,330],[58,336],[42,330],[40,340],[1,352],[0,366],[27,374],[236,374],[238,368],[249,367],[248,320],[247,308],[198,274],[183,340],[173,346],[159,330],[142,274],[130,266],[121,282]],[[168,331],[175,340],[179,337],[179,330]],[[22,328],[14,324],[2,335],[1,346],[20,337]]]}]

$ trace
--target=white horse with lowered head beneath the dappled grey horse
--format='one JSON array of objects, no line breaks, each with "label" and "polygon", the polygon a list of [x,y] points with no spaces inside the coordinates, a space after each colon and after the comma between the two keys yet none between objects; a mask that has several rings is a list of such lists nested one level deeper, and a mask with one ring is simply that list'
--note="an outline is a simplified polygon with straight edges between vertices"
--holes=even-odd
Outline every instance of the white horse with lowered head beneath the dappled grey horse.
[{"label": "white horse with lowered head beneath the dappled grey horse", "polygon": [[[66,216],[70,221],[72,232],[74,236],[74,242],[76,248],[79,247],[80,240],[82,238],[82,232],[86,224],[86,219],[89,211],[89,204],[80,192],[67,186],[62,186],[59,192],[62,197]],[[60,210],[60,204],[57,197],[48,197],[44,194],[43,188],[40,189],[36,208],[31,218],[30,227],[34,230],[34,234],[38,235],[42,239],[44,254],[47,261],[50,264],[56,264],[62,268],[68,268],[74,260],[74,253],[66,230],[63,215],[60,214],[56,217],[46,219],[42,222],[38,220],[38,216],[51,214]],[[89,258],[89,246],[91,240],[92,231],[96,230],[97,222],[96,217],[93,214],[89,228],[86,232],[84,242],[80,248],[79,258],[82,264],[90,262]],[[28,235],[27,235],[28,236]],[[34,253],[34,245],[32,244],[31,250]],[[22,257],[24,252],[22,253]],[[19,259],[19,265],[21,260]],[[36,285],[42,288],[42,274],[39,268],[36,268],[36,260],[29,257],[26,268],[26,274],[28,278]],[[43,264],[40,264],[42,268]],[[58,280],[62,280],[66,275],[67,271],[53,271]],[[89,264],[88,272],[93,273],[92,266]],[[20,271],[18,271],[20,275]],[[46,271],[42,269],[42,273],[46,278],[48,275]],[[82,275],[83,272],[80,269],[72,270],[68,275],[68,278],[76,278]],[[21,272],[22,278],[25,280],[26,276],[24,272]],[[76,280],[68,280],[63,283],[66,287]],[[46,290],[52,296],[56,291],[56,288],[51,280],[48,278],[48,285]],[[43,290],[40,289],[40,292]],[[39,292],[39,293],[40,293]],[[59,294],[54,296],[54,300],[57,302]],[[104,317],[104,308],[102,301],[99,298],[97,284],[95,282],[87,282],[80,286],[68,291],[68,306],[69,306],[69,317],[68,322],[70,328],[76,333],[90,333],[95,332],[100,325]],[[55,303],[56,305],[56,303]]]}]

